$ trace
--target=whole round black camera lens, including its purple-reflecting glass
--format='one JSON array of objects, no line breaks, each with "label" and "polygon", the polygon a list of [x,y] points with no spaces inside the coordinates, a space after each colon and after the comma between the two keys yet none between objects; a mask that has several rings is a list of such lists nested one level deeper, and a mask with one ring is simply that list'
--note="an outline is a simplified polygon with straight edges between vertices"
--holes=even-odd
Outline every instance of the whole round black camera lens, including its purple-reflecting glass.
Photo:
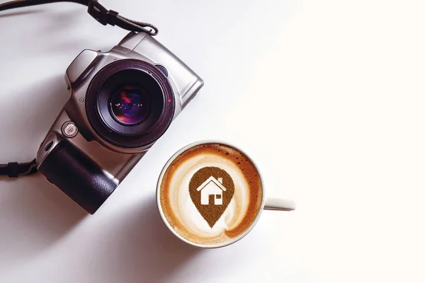
[{"label": "whole round black camera lens, including its purple-reflecting glass", "polygon": [[120,59],[96,73],[86,93],[91,127],[114,150],[140,148],[164,134],[175,99],[166,76],[139,59]]}]

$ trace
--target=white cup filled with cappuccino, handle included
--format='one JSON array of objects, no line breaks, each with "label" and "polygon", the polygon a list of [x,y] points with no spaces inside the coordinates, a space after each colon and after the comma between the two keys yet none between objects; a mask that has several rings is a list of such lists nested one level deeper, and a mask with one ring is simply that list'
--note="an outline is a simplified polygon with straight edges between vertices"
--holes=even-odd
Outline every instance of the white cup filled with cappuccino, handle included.
[{"label": "white cup filled with cappuccino, handle included", "polygon": [[244,238],[263,209],[295,209],[293,201],[266,198],[254,161],[222,141],[197,141],[177,151],[159,175],[157,206],[174,235],[200,248]]}]

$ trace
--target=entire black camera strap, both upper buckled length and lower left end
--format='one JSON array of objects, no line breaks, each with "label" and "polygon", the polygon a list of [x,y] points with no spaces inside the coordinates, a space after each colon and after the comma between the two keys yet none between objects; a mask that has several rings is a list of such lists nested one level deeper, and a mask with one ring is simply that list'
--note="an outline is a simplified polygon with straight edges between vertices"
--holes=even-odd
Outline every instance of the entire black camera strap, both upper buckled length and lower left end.
[{"label": "entire black camera strap, both upper buckled length and lower left end", "polygon": [[[120,16],[118,12],[108,10],[102,6],[97,0],[14,0],[6,3],[0,3],[0,12],[12,8],[22,8],[28,6],[36,6],[50,3],[71,2],[87,6],[87,12],[96,21],[102,25],[117,25],[125,30],[135,32],[145,32],[149,35],[157,35],[158,28],[150,23],[133,21],[129,18]],[[30,175],[37,172],[37,163],[35,159],[26,163],[4,163],[0,164],[0,177],[8,176],[9,178],[17,178],[24,175]]]}]

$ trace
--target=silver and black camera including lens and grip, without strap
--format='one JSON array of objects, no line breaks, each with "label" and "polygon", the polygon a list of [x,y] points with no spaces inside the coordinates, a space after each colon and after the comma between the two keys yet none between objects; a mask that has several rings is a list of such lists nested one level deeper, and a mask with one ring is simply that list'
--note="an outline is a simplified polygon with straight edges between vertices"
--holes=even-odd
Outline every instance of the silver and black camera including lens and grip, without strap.
[{"label": "silver and black camera including lens and grip, without strap", "polygon": [[84,50],[69,65],[70,97],[37,154],[47,180],[94,214],[203,80],[147,33],[109,52]]}]

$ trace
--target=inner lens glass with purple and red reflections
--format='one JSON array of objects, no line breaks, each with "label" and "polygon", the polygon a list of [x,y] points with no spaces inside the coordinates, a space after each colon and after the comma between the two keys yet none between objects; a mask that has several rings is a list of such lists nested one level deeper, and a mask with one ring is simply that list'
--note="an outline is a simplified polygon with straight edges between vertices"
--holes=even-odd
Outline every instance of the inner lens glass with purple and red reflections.
[{"label": "inner lens glass with purple and red reflections", "polygon": [[110,110],[123,125],[135,125],[149,115],[149,95],[138,86],[120,86],[111,96]]}]

